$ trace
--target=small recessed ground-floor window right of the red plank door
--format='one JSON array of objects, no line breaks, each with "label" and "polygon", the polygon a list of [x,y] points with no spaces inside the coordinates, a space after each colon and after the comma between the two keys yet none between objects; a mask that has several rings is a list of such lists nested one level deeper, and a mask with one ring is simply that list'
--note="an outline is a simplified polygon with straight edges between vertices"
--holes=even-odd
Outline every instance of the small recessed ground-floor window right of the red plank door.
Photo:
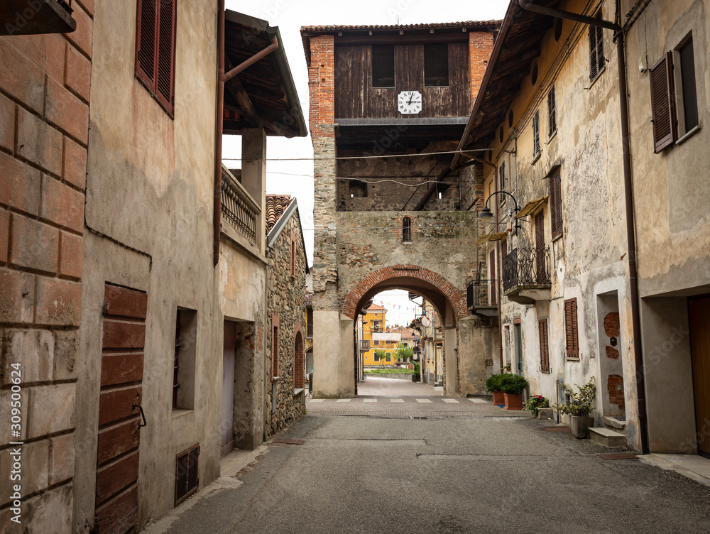
[{"label": "small recessed ground-floor window right of the red plank door", "polygon": [[195,407],[196,341],[197,312],[178,309],[175,314],[173,410],[192,410]]}]

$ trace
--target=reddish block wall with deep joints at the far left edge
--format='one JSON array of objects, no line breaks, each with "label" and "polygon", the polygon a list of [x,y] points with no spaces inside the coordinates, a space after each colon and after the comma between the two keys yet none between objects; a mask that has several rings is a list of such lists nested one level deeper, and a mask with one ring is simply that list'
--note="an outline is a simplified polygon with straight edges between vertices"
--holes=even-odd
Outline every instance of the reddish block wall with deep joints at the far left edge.
[{"label": "reddish block wall with deep joints at the far left edge", "polygon": [[22,523],[33,532],[71,531],[93,4],[73,2],[73,33],[0,38],[0,477],[6,444],[23,441]]}]

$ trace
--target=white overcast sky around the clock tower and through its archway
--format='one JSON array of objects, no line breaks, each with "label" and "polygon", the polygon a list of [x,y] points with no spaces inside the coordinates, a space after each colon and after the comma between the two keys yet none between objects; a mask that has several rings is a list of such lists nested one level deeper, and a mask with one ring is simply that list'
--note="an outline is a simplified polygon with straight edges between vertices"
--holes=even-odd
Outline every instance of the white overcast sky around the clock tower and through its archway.
[{"label": "white overcast sky around the clock tower and through its archway", "polygon": [[[332,24],[419,24],[434,22],[487,21],[503,18],[507,0],[226,0],[226,9],[263,18],[270,26],[278,26],[296,85],[301,109],[308,120],[308,70],[300,36],[301,26]],[[291,159],[268,161],[266,164],[266,192],[295,196],[304,229],[308,263],[313,263],[313,162],[294,158],[312,158],[310,136],[305,138],[269,137],[267,158]],[[241,137],[224,136],[224,163],[238,168],[241,158]],[[376,297],[388,308],[387,323],[402,325],[414,317],[414,304],[407,292]],[[390,305],[388,305],[390,303]],[[421,310],[421,308],[419,308]]]}]

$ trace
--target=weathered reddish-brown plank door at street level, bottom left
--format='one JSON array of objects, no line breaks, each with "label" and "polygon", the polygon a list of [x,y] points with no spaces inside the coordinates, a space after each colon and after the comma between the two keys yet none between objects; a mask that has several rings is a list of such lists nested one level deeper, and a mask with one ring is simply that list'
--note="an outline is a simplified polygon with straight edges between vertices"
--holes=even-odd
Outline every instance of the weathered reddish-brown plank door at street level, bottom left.
[{"label": "weathered reddish-brown plank door at street level, bottom left", "polygon": [[147,305],[146,293],[106,284],[94,533],[125,534],[138,525]]}]

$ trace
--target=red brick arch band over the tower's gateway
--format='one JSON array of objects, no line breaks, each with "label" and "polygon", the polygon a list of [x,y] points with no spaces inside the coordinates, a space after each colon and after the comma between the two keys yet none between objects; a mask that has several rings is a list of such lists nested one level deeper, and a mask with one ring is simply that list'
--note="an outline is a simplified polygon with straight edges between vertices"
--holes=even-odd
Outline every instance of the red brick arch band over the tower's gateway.
[{"label": "red brick arch band over the tower's gateway", "polygon": [[454,315],[456,315],[457,321],[466,317],[468,313],[466,309],[466,292],[464,290],[457,289],[449,280],[425,267],[402,264],[383,267],[377,271],[373,271],[356,283],[354,288],[352,288],[350,293],[345,297],[343,313],[351,319],[354,319],[357,312],[357,305],[364,295],[376,285],[391,280],[392,278],[412,278],[433,285],[437,288],[439,293],[447,298],[454,309]]}]

